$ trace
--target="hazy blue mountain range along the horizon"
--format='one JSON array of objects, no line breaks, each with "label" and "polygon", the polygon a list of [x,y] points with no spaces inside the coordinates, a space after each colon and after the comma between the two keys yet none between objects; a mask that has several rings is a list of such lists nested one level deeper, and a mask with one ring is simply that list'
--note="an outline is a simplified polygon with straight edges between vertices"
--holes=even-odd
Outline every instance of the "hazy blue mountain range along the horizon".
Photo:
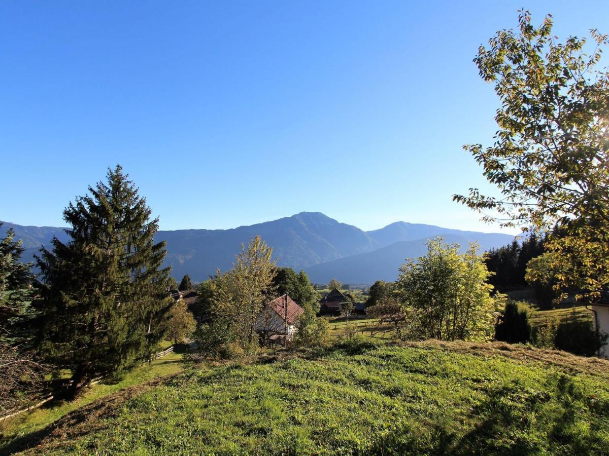
[{"label": "hazy blue mountain range along the horizon", "polygon": [[[4,231],[13,228],[16,238],[26,249],[23,261],[29,261],[40,246],[49,246],[56,236],[68,240],[65,229],[58,227],[21,226],[4,223]],[[443,236],[450,243],[466,249],[479,242],[481,250],[500,247],[513,241],[512,235],[480,233],[438,226],[396,222],[378,230],[364,231],[340,223],[320,212],[301,212],[250,226],[227,230],[158,231],[156,241],[167,241],[166,265],[173,268],[177,280],[189,274],[194,282],[205,280],[216,269],[231,267],[241,243],[259,235],[273,247],[273,257],[280,266],[296,271],[305,269],[312,282],[327,283],[337,278],[343,283],[373,283],[395,280],[406,258],[425,252],[429,238]]]}]

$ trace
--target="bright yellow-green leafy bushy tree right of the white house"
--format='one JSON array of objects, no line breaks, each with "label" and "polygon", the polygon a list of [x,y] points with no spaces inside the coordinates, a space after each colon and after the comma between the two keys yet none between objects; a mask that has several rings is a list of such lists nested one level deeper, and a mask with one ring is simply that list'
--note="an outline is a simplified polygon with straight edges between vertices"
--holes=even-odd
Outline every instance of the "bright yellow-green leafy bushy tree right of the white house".
[{"label": "bright yellow-green leafy bushy tree right of the white house", "polygon": [[493,337],[496,300],[487,283],[489,272],[477,245],[459,254],[457,244],[437,237],[424,257],[400,268],[397,287],[406,320],[420,334],[440,340],[488,340]]}]

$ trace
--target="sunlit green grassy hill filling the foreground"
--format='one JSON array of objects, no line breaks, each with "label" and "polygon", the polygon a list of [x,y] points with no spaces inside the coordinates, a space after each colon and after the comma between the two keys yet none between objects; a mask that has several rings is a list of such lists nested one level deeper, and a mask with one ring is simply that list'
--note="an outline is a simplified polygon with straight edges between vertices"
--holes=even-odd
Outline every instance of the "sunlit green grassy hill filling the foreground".
[{"label": "sunlit green grassy hill filling the foreground", "polygon": [[[38,446],[36,446],[38,445]],[[373,344],[192,367],[4,446],[45,454],[607,454],[609,362]]]}]

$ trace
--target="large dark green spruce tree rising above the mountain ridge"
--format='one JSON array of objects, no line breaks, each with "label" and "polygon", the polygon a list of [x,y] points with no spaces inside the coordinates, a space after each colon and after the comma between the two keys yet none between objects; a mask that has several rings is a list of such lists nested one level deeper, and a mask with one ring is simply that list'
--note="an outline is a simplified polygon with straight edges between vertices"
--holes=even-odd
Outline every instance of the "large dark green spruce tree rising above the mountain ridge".
[{"label": "large dark green spruce tree rising above the mountain ridge", "polygon": [[119,376],[150,359],[163,339],[170,268],[165,243],[155,243],[158,218],[120,165],[107,184],[70,203],[63,218],[70,240],[52,240],[38,259],[43,281],[40,353],[72,373],[70,395],[97,376]]}]

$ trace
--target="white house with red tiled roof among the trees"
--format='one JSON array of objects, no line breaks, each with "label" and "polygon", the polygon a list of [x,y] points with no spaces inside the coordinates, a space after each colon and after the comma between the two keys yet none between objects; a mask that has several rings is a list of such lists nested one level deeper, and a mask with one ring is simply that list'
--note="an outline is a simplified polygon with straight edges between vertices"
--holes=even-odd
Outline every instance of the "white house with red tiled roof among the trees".
[{"label": "white house with red tiled roof among the trees", "polygon": [[263,342],[283,344],[296,333],[296,320],[305,311],[287,294],[267,303],[260,315],[256,329]]}]

